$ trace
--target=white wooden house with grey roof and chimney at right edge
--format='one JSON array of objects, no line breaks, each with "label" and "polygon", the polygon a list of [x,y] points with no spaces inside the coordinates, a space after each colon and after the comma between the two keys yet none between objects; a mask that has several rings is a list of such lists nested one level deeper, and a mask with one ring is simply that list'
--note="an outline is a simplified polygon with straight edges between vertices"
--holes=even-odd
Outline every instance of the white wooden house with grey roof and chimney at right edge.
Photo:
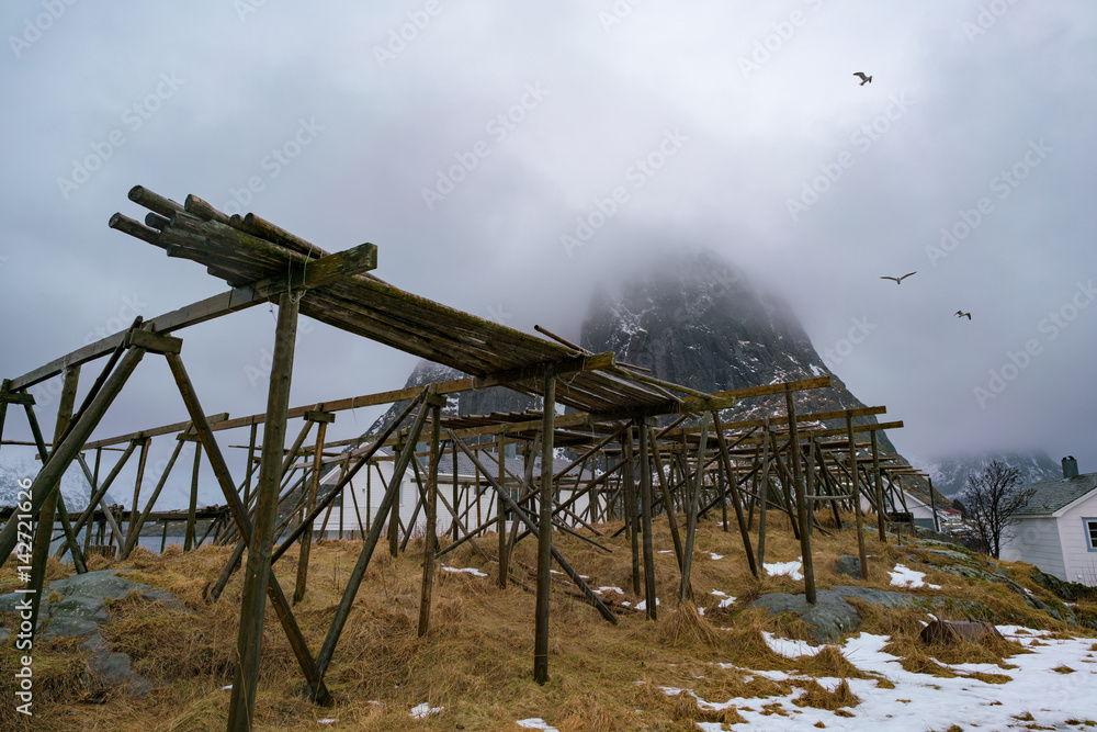
[{"label": "white wooden house with grey roof and chimney at right edge", "polygon": [[1036,495],[1003,532],[1002,559],[1097,586],[1097,473],[1078,475],[1077,462],[1064,458],[1063,474],[1029,486]]}]

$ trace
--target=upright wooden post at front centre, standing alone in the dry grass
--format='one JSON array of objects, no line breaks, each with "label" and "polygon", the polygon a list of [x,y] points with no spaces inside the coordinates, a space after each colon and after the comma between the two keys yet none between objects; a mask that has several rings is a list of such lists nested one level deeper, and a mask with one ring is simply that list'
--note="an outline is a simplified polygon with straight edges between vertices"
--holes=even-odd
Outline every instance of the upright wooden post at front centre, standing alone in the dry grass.
[{"label": "upright wooden post at front centre, standing alone in the dry grass", "polygon": [[552,565],[553,436],[556,429],[556,364],[545,368],[541,427],[541,517],[538,521],[538,605],[533,634],[533,680],[548,683],[548,590]]}]

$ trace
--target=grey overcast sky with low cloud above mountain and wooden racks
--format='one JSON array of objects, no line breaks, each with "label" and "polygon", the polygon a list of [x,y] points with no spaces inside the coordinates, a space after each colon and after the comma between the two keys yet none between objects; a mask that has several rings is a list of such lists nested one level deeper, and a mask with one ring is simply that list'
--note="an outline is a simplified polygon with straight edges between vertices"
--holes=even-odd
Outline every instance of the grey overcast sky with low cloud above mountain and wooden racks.
[{"label": "grey overcast sky with low cloud above mountain and wooden racks", "polygon": [[[108,228],[139,183],[372,241],[398,286],[573,338],[622,262],[708,246],[906,423],[907,457],[1097,470],[1090,0],[377,4],[3,3],[0,375],[226,289]],[[207,413],[263,410],[268,307],[181,335]],[[292,403],[414,364],[303,323]],[[150,356],[97,436],[184,417]]]}]

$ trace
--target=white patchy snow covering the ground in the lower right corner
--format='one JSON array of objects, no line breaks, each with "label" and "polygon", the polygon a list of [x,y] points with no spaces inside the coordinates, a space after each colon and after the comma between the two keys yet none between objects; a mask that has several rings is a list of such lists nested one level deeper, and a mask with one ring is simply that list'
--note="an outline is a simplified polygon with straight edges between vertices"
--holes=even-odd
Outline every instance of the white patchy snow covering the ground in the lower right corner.
[{"label": "white patchy snow covering the ground in the lower right corner", "polygon": [[[992,664],[959,664],[949,666],[957,673],[984,672],[1006,675],[1005,684],[988,684],[975,678],[939,678],[904,671],[898,658],[883,652],[889,639],[861,633],[848,639],[841,647],[849,661],[869,673],[877,673],[895,685],[880,688],[874,679],[847,679],[860,703],[841,710],[842,714],[812,707],[798,707],[793,699],[803,694],[794,689],[785,697],[701,699],[690,689],[664,688],[668,695],[689,694],[702,709],[721,710],[735,706],[748,722],[723,727],[699,722],[706,732],[728,729],[805,730],[818,722],[828,730],[870,730],[877,732],[887,724],[891,730],[937,730],[945,732],[953,724],[964,730],[1093,730],[1097,727],[1097,647],[1093,639],[1054,640],[1047,631],[1027,630],[1015,626],[998,626],[1009,640],[1019,641],[1032,653],[1020,653],[1006,663],[1017,668],[1003,669]],[[783,655],[795,657],[814,654],[802,641],[777,639],[766,634],[770,646]],[[1034,645],[1033,641],[1040,643]],[[731,667],[728,664],[720,664]],[[942,664],[943,665],[943,664]],[[1056,671],[1058,669],[1058,671]],[[795,678],[796,674],[774,671],[751,671],[774,680]],[[816,679],[824,688],[834,689],[840,679]],[[762,706],[780,713],[764,713]],[[1031,717],[1029,717],[1031,716]],[[1036,727],[1039,725],[1039,727]]]}]

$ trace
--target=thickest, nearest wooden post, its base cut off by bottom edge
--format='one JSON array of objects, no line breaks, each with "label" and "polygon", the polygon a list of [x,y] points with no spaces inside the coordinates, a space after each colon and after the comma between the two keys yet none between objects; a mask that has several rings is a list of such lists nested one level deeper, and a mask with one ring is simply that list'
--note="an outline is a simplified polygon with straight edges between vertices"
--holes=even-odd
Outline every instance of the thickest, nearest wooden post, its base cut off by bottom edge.
[{"label": "thickest, nearest wooden post, its base cut off by bottom edge", "polygon": [[279,296],[262,462],[259,464],[259,484],[256,487],[256,525],[248,547],[244,597],[240,600],[240,632],[237,640],[239,661],[228,710],[229,732],[249,732],[256,713],[263,611],[270,581],[271,543],[274,539],[278,487],[282,477],[282,450],[285,448],[285,419],[293,373],[293,347],[297,333],[297,303],[298,297],[289,292]]}]

